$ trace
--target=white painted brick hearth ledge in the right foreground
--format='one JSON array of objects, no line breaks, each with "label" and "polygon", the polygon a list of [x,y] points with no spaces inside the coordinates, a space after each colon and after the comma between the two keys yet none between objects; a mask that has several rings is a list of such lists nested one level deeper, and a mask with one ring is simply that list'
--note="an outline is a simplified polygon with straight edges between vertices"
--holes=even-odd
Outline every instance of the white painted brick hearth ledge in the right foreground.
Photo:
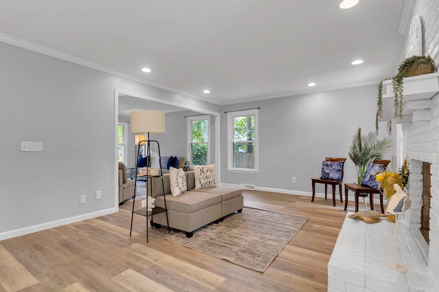
[{"label": "white painted brick hearth ledge in the right foreground", "polygon": [[399,263],[409,265],[405,273],[387,267],[394,263],[394,225],[387,220],[366,224],[344,220],[328,263],[328,291],[420,292],[431,289],[427,262],[419,252],[410,226],[401,220],[398,228]]}]

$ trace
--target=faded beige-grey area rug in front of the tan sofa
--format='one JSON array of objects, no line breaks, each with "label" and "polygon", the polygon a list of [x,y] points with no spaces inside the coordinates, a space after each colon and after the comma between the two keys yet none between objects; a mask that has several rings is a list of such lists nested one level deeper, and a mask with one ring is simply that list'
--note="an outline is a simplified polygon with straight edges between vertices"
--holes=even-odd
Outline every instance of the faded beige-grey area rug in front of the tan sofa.
[{"label": "faded beige-grey area rug in front of the tan sofa", "polygon": [[228,215],[219,224],[195,230],[191,238],[182,232],[167,240],[262,272],[307,220],[307,217],[244,208],[242,213]]}]

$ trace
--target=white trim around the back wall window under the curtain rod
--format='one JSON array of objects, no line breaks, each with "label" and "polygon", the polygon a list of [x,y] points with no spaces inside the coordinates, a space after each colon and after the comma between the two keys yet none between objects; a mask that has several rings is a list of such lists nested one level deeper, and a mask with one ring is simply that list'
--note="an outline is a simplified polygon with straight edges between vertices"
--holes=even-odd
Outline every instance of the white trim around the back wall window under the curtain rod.
[{"label": "white trim around the back wall window under the curtain rod", "polygon": [[[239,116],[254,115],[254,168],[233,168],[233,119]],[[228,172],[259,172],[259,110],[230,111],[227,113],[227,171]]]}]

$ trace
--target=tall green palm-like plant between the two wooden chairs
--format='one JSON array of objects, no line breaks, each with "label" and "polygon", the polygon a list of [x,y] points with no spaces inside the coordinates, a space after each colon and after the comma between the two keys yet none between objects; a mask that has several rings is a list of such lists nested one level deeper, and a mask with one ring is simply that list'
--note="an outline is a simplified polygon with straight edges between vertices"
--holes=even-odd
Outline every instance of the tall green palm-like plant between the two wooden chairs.
[{"label": "tall green palm-like plant between the two wooden chairs", "polygon": [[369,163],[375,159],[381,159],[391,147],[392,141],[388,138],[379,140],[377,132],[370,131],[367,135],[364,135],[361,133],[361,128],[357,129],[351,147],[349,147],[348,155],[355,164],[359,184],[361,184]]}]

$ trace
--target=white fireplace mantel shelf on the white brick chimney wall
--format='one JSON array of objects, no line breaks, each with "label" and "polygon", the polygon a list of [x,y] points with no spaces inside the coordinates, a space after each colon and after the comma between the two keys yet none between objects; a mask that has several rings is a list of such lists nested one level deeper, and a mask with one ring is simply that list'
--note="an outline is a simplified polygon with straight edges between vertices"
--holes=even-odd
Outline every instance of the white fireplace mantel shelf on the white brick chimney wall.
[{"label": "white fireplace mantel shelf on the white brick chimney wall", "polygon": [[439,92],[439,73],[406,77],[403,80],[403,117],[394,117],[392,80],[383,81],[383,116],[380,122],[394,121],[410,127],[411,122],[429,119],[431,98]]}]

